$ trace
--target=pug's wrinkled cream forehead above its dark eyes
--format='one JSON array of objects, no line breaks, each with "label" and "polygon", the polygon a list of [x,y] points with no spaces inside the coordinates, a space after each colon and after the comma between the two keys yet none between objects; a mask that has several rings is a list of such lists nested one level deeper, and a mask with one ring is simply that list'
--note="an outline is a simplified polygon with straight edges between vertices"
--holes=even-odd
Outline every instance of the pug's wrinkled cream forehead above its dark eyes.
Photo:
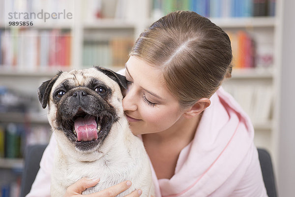
[{"label": "pug's wrinkled cream forehead above its dark eyes", "polygon": [[111,89],[116,88],[118,84],[110,79],[103,72],[95,69],[82,69],[82,70],[71,70],[69,72],[62,72],[56,81],[53,89],[56,89],[58,86],[67,86],[69,89],[78,87],[78,86],[88,86],[93,81],[102,82]]}]

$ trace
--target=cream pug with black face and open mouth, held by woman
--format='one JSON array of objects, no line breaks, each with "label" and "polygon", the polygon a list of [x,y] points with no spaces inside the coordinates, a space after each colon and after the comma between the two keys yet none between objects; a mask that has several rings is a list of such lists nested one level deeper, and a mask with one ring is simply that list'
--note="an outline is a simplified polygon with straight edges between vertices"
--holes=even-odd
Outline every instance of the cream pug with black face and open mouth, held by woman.
[{"label": "cream pug with black face and open mouth, held by woman", "polygon": [[57,140],[51,197],[62,197],[67,187],[88,177],[99,183],[91,194],[122,181],[142,197],[153,195],[151,170],[142,141],[130,131],[122,107],[126,78],[103,67],[62,72],[38,89],[43,108]]}]

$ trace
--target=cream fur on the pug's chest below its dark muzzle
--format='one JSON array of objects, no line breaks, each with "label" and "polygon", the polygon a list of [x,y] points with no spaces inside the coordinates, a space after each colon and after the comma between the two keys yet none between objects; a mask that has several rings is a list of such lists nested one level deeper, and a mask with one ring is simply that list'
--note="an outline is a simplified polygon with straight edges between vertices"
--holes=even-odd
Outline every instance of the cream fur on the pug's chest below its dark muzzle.
[{"label": "cream fur on the pug's chest below its dark muzzle", "polygon": [[[85,190],[82,194],[91,194],[102,191],[106,188],[117,185],[126,180],[132,180],[131,187],[119,194],[117,197],[124,197],[136,189],[143,191],[143,197],[149,197],[152,186],[150,182],[150,170],[148,158],[142,155],[140,150],[144,149],[142,142],[136,136],[132,137],[132,144],[126,146],[123,140],[116,141],[116,145],[110,148],[108,146],[107,154],[100,152],[90,155],[78,155],[69,153],[66,149],[59,147],[55,154],[55,166],[52,178],[54,184],[52,187],[52,196],[60,197],[65,193],[65,189],[81,179],[87,177],[91,179],[100,179],[99,183],[92,188]],[[129,141],[129,140],[125,140]],[[59,142],[58,142],[59,143]],[[140,150],[130,149],[131,146],[138,147]],[[67,155],[64,155],[62,150]],[[69,156],[70,154],[70,156]],[[80,162],[81,157],[99,158],[93,162]],[[140,160],[136,160],[140,158]],[[83,159],[82,159],[83,160]],[[144,178],[147,177],[147,178]]]}]

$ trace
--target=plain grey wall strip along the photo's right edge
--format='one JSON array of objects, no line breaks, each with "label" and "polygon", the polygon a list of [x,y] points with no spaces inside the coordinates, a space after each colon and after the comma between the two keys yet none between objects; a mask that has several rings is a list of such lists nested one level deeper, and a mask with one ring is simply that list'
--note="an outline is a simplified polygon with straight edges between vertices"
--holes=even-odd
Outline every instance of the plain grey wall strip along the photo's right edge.
[{"label": "plain grey wall strip along the photo's right edge", "polygon": [[295,186],[295,1],[282,1],[278,133],[280,197],[294,197]]}]

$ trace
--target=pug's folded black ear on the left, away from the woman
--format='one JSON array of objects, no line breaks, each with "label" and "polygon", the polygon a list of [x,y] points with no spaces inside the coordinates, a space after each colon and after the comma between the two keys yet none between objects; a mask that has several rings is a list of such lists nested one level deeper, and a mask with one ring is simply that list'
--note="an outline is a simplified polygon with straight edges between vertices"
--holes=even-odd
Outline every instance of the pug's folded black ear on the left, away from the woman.
[{"label": "pug's folded black ear on the left, away from the woman", "polygon": [[51,92],[51,89],[53,87],[53,84],[56,82],[56,80],[59,78],[59,75],[62,73],[62,71],[59,71],[57,75],[55,75],[52,79],[47,80],[41,84],[41,86],[38,89],[38,99],[43,107],[43,109],[46,108],[47,102],[49,99],[49,94]]}]

